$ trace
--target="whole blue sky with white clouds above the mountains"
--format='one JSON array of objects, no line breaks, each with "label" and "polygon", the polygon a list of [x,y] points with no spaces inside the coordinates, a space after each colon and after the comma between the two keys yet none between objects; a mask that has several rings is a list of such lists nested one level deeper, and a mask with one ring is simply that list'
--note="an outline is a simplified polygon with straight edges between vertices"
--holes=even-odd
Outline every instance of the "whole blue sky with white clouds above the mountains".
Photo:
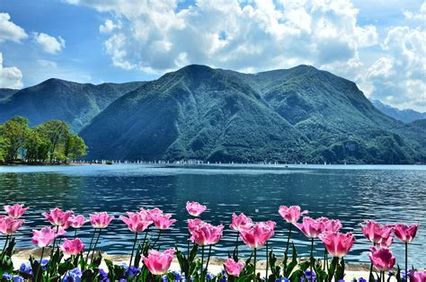
[{"label": "whole blue sky with white clouds above the mountains", "polygon": [[0,87],[152,80],[193,63],[251,73],[307,64],[426,111],[425,15],[416,0],[2,0]]}]

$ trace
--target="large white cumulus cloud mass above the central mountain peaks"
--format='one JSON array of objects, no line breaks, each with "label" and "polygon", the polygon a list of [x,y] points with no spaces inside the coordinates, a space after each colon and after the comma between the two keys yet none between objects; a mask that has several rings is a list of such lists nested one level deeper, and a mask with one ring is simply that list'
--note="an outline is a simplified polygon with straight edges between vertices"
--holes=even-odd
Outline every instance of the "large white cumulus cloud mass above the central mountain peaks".
[{"label": "large white cumulus cloud mass above the central mountain peaks", "polygon": [[345,63],[377,42],[376,28],[360,26],[347,0],[71,3],[113,14],[100,26],[112,64],[150,73],[191,63],[252,71]]}]

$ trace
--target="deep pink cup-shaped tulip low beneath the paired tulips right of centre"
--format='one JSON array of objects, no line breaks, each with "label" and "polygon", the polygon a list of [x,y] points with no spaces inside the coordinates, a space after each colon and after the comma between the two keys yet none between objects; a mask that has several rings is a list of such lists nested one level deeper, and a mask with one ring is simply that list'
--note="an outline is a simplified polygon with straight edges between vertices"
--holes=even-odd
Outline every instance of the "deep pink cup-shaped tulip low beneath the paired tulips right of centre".
[{"label": "deep pink cup-shaped tulip low beneath the paired tulips right of centre", "polygon": [[350,233],[342,234],[338,232],[325,232],[318,235],[324,242],[325,249],[334,258],[344,257],[352,248],[355,237]]}]

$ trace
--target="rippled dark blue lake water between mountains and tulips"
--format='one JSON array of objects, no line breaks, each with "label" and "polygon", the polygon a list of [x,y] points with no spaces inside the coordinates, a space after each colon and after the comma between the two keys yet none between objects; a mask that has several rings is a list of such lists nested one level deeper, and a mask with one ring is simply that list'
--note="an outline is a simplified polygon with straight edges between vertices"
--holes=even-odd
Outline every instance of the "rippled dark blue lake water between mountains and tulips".
[{"label": "rippled dark blue lake water between mountains and tulips", "polygon": [[[357,262],[368,261],[369,244],[359,228],[364,219],[384,224],[419,223],[418,235],[409,249],[410,264],[426,266],[425,166],[16,166],[0,167],[0,190],[1,205],[20,202],[31,207],[23,216],[26,223],[19,233],[18,247],[32,246],[31,229],[48,225],[40,214],[49,208],[72,209],[84,216],[106,210],[118,217],[139,207],[160,207],[178,219],[173,229],[162,235],[162,248],[176,243],[185,249],[185,204],[196,200],[208,206],[202,219],[226,225],[224,238],[213,248],[217,256],[226,256],[234,248],[235,233],[228,230],[234,211],[256,221],[276,221],[271,245],[282,253],[288,225],[278,215],[278,208],[299,205],[309,210],[310,216],[340,219],[343,231],[357,237],[347,257]],[[91,232],[86,225],[80,236],[87,242]],[[155,238],[155,231],[150,235]],[[116,219],[102,238],[102,250],[129,253],[133,234]],[[309,242],[298,231],[292,238],[297,251],[307,256]],[[317,255],[322,255],[322,243],[316,242],[316,247]],[[403,244],[395,240],[392,249],[402,264]],[[245,247],[240,250],[249,253]]]}]

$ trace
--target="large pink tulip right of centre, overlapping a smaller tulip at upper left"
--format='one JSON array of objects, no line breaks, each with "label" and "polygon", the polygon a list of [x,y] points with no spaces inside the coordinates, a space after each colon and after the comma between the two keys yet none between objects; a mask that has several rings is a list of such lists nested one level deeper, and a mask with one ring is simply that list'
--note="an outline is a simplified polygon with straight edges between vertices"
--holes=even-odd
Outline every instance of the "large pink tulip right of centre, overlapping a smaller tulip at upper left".
[{"label": "large pink tulip right of centre, overlapping a smaller tulip at upper left", "polygon": [[273,236],[275,225],[273,221],[257,223],[250,229],[240,230],[240,238],[250,248],[260,248]]}]

